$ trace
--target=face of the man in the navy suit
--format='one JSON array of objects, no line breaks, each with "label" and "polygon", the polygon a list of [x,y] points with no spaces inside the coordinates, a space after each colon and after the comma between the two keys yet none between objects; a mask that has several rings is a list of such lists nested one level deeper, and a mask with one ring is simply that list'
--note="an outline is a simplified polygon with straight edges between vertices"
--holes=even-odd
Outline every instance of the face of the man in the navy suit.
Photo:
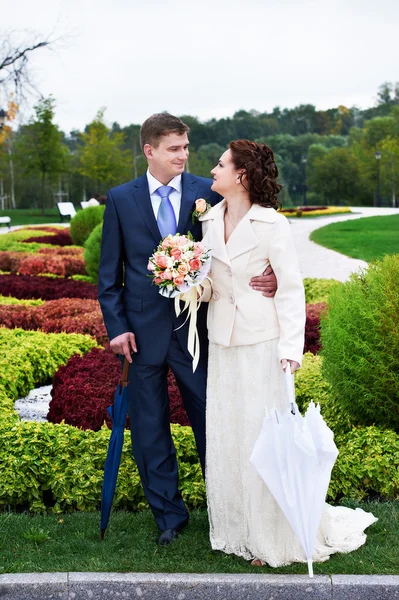
[{"label": "face of the man in the navy suit", "polygon": [[187,133],[169,133],[161,137],[157,147],[145,144],[143,150],[151,174],[159,181],[170,181],[184,171],[188,158]]}]

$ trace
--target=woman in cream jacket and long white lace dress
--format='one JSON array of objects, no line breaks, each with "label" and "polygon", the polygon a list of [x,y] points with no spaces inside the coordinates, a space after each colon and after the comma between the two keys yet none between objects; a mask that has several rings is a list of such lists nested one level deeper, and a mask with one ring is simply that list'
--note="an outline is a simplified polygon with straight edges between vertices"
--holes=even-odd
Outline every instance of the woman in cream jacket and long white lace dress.
[{"label": "woman in cream jacket and long white lace dress", "polygon": [[[212,548],[272,567],[306,562],[286,517],[250,463],[265,409],[283,410],[283,370],[300,367],[305,295],[287,219],[277,212],[278,170],[272,150],[231,142],[212,170],[224,200],[201,217],[212,252],[206,413],[206,485]],[[249,281],[271,265],[274,298]],[[314,561],[362,545],[376,519],[364,511],[326,505]]]}]

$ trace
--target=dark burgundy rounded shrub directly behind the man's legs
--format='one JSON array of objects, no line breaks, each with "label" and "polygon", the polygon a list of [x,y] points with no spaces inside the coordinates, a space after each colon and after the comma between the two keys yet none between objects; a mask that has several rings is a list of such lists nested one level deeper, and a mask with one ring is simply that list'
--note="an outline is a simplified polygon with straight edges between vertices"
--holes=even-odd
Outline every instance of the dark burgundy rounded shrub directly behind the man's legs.
[{"label": "dark burgundy rounded shrub directly behind the man's legs", "polygon": [[[83,357],[74,356],[54,375],[52,400],[47,419],[98,431],[104,421],[111,427],[106,412],[113,402],[121,376],[119,360],[110,349],[93,348]],[[168,374],[171,422],[189,425],[183,402],[171,372]],[[129,420],[126,424],[129,427]]]}]

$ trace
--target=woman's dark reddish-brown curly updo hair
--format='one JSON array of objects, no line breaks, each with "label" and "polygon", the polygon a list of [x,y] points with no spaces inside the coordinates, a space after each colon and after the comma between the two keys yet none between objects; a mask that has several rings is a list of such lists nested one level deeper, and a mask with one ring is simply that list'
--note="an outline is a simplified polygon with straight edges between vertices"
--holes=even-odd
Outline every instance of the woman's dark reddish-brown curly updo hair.
[{"label": "woman's dark reddish-brown curly updo hair", "polygon": [[[282,186],[277,183],[278,169],[274,162],[274,154],[266,144],[257,144],[250,140],[230,142],[232,162],[236,170],[243,169],[241,183],[249,192],[253,204],[281,208],[277,194]],[[243,181],[244,175],[246,176]]]}]

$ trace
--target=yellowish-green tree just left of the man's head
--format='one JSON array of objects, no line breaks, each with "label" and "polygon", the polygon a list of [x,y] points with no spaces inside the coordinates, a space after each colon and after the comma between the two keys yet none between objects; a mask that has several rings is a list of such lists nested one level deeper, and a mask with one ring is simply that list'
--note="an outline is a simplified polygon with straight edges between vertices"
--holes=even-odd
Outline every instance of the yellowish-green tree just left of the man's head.
[{"label": "yellowish-green tree just left of the man's head", "polygon": [[105,188],[131,177],[131,153],[124,149],[124,140],[123,132],[112,133],[106,126],[104,110],[97,113],[81,134],[78,169],[97,186],[97,192],[104,192]]}]

